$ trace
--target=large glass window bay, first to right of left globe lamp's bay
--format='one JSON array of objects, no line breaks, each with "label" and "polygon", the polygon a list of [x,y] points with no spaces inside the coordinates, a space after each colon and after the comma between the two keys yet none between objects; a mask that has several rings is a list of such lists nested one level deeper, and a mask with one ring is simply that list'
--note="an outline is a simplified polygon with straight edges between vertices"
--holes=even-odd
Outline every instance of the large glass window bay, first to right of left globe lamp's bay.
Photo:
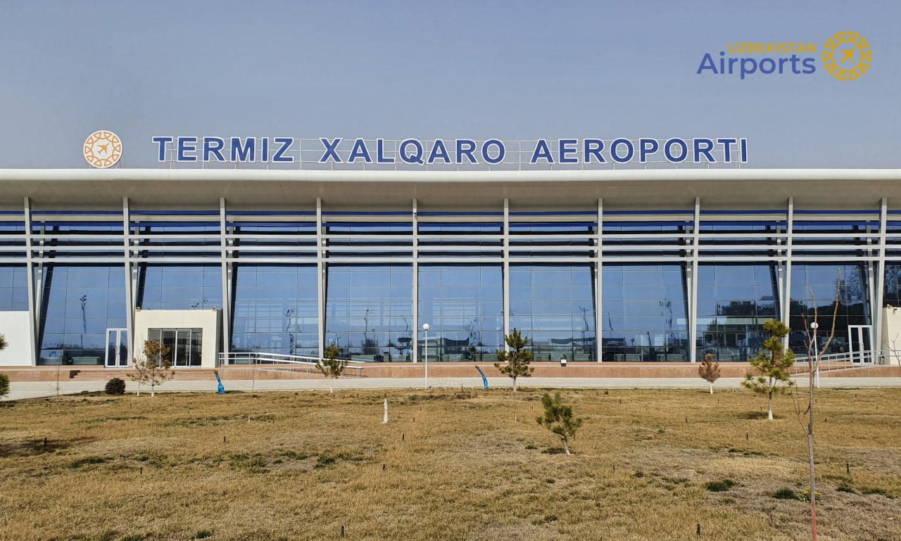
[{"label": "large glass window bay, first to right of left globe lamp's bay", "polygon": [[596,360],[594,283],[591,265],[510,267],[510,327],[536,361]]}]

